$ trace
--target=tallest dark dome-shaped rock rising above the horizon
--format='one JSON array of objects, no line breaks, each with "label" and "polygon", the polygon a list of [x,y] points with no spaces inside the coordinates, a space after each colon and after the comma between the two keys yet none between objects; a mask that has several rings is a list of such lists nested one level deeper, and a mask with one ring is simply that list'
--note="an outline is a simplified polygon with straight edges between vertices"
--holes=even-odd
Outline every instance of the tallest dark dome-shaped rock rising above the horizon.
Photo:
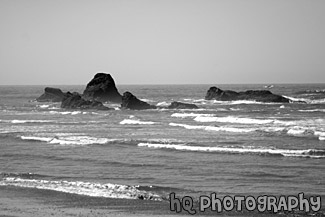
[{"label": "tallest dark dome-shaped rock rising above the horizon", "polygon": [[114,79],[110,74],[97,73],[94,78],[87,84],[83,92],[83,97],[88,100],[100,102],[121,103],[122,96],[118,92]]}]

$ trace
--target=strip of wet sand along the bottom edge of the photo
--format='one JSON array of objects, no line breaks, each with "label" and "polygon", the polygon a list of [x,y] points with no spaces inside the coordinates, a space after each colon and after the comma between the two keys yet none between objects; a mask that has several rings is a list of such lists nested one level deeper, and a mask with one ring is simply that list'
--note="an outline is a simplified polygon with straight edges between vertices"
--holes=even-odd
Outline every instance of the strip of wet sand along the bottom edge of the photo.
[{"label": "strip of wet sand along the bottom edge of the photo", "polygon": [[[323,210],[323,209],[322,209]],[[324,212],[322,212],[324,213]],[[312,216],[309,214],[308,216]],[[168,201],[111,199],[49,190],[0,186],[0,217],[190,216],[169,210]],[[204,212],[194,216],[306,216],[306,213]],[[313,216],[324,216],[316,214]]]}]

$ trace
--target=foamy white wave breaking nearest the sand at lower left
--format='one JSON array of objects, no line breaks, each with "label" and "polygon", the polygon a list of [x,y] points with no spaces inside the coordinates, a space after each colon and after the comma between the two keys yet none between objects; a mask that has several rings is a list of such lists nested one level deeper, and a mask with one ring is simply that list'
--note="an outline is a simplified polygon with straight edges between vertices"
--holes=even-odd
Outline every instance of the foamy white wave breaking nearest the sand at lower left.
[{"label": "foamy white wave breaking nearest the sand at lower left", "polygon": [[36,188],[42,190],[59,191],[70,194],[86,195],[91,197],[106,197],[120,199],[142,199],[161,201],[162,197],[152,192],[139,190],[136,186],[118,184],[100,184],[81,181],[49,181],[26,179],[19,177],[5,177],[0,181],[2,186],[16,186]]}]

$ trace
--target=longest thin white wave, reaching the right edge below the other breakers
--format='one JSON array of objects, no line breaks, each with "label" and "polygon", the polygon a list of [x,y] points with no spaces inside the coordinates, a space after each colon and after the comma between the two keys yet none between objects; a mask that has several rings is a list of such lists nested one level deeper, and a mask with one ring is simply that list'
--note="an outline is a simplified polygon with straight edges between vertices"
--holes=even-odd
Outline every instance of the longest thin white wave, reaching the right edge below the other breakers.
[{"label": "longest thin white wave, reaching the right edge below the other breakers", "polygon": [[160,148],[160,149],[175,149],[180,151],[197,151],[197,152],[216,152],[229,154],[258,154],[258,155],[277,155],[284,157],[308,157],[308,158],[325,158],[325,150],[306,149],[306,150],[290,150],[264,148],[255,146],[241,147],[205,147],[205,146],[187,146],[175,144],[152,144],[139,143],[139,147]]}]

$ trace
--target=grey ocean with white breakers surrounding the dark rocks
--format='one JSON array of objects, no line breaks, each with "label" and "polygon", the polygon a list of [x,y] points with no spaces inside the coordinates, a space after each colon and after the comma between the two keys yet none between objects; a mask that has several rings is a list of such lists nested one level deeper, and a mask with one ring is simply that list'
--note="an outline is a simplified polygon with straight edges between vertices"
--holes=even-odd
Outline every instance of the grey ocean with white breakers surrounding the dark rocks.
[{"label": "grey ocean with white breakers surrounding the dark rocks", "polygon": [[199,107],[142,111],[66,110],[35,101],[45,86],[0,86],[0,186],[158,201],[325,195],[325,84],[275,84],[288,104],[204,100],[211,86],[118,85],[152,105]]}]

